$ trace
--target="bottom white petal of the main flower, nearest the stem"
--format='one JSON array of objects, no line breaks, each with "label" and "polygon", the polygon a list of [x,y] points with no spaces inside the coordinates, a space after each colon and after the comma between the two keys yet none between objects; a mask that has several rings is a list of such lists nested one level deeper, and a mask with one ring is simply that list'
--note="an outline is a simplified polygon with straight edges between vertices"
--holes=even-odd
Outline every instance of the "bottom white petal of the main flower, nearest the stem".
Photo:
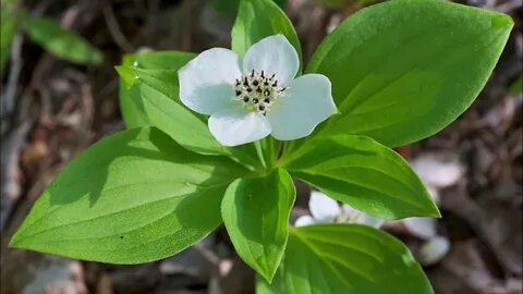
[{"label": "bottom white petal of the main flower, nearest the stem", "polygon": [[224,146],[238,146],[262,139],[270,134],[267,118],[244,108],[231,108],[210,115],[210,133]]}]

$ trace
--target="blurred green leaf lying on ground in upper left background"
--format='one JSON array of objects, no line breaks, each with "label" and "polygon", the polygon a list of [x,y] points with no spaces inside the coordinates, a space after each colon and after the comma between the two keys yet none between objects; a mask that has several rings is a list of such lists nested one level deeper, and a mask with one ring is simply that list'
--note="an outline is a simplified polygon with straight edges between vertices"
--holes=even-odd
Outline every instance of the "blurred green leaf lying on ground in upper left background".
[{"label": "blurred green leaf lying on ground in upper left background", "polygon": [[25,14],[22,24],[29,37],[56,57],[74,62],[100,64],[100,50],[74,33],[60,27],[52,19]]}]

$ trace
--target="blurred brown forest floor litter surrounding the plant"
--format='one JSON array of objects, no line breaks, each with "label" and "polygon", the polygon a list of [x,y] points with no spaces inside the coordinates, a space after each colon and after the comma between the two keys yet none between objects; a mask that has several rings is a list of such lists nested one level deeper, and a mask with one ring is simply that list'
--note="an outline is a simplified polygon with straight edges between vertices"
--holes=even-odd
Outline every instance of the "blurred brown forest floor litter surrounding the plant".
[{"label": "blurred brown forest floor litter surrounding the plant", "polygon": [[[307,60],[331,29],[370,1],[276,2],[294,23]],[[438,294],[519,294],[523,8],[521,0],[463,3],[508,13],[515,27],[474,105],[439,134],[398,149],[431,188],[442,219],[387,222],[384,229],[411,247]],[[174,257],[142,266],[7,247],[64,164],[124,128],[113,69],[122,56],[229,47],[236,7],[234,0],[2,0],[1,293],[254,293],[254,274],[235,256],[223,228]],[[86,60],[66,61],[42,49],[38,32],[12,25],[14,15],[21,15],[15,12],[50,17],[95,49]],[[308,213],[308,187],[299,184],[293,219]],[[428,246],[433,236],[440,242]]]}]

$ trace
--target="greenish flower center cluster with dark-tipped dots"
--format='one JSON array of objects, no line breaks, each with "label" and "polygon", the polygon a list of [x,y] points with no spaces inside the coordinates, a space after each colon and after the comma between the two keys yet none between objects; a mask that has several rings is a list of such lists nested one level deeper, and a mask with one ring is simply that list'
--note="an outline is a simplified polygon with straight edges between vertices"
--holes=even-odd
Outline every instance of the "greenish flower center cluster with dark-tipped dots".
[{"label": "greenish flower center cluster with dark-tipped dots", "polygon": [[257,111],[264,115],[270,110],[270,106],[278,100],[285,90],[279,87],[276,74],[266,76],[264,71],[252,70],[245,72],[241,79],[234,84],[236,99],[243,102],[250,111]]}]

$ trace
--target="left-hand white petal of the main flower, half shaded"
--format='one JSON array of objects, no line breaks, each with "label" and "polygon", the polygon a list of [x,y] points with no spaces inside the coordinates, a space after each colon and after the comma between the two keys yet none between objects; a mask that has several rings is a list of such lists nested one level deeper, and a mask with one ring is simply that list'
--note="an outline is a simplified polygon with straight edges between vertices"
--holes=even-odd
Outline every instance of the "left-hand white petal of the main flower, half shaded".
[{"label": "left-hand white petal of the main flower, half shaded", "polygon": [[231,50],[206,50],[180,69],[178,75],[180,99],[196,112],[210,115],[236,102],[233,85],[242,73],[240,59]]}]

